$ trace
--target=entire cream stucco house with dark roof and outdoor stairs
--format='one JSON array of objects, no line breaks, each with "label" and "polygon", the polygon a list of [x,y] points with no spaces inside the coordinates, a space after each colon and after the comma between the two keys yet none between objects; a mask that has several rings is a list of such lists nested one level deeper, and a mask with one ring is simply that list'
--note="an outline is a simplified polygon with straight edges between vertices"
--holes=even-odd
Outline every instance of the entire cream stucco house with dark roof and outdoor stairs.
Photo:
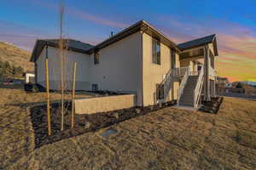
[{"label": "entire cream stucco house with dark roof and outdoor stairs", "polygon": [[[66,39],[66,88],[71,88],[73,63],[78,65],[76,90],[109,90],[137,95],[137,105],[177,100],[198,107],[215,96],[216,36],[176,44],[141,20],[96,44]],[[45,85],[44,61],[49,59],[49,84],[60,89],[60,50],[57,39],[37,40],[31,61],[35,79]]]}]

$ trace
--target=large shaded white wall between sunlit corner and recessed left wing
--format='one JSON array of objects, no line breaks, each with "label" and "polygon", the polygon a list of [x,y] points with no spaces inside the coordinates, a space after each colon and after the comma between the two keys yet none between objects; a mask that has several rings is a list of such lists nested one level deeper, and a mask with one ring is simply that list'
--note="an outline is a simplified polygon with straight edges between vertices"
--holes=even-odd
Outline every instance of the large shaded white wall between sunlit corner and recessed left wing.
[{"label": "large shaded white wall between sunlit corner and recessed left wing", "polygon": [[90,57],[91,83],[102,90],[121,90],[137,94],[138,105],[142,102],[142,37],[140,32],[115,42],[99,52],[99,64]]}]

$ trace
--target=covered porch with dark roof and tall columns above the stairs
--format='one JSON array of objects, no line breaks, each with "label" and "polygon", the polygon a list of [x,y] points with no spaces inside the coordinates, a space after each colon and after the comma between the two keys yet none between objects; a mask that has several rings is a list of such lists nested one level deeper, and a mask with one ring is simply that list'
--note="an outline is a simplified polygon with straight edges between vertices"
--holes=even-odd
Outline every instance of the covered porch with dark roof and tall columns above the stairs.
[{"label": "covered porch with dark roof and tall columns above the stairs", "polygon": [[[202,100],[210,101],[216,96],[216,65],[215,57],[218,56],[216,36],[202,37],[190,42],[178,44],[182,49],[179,54],[180,68],[177,75],[183,77],[189,70],[189,76],[198,76],[203,68]],[[201,81],[201,80],[198,80]]]}]

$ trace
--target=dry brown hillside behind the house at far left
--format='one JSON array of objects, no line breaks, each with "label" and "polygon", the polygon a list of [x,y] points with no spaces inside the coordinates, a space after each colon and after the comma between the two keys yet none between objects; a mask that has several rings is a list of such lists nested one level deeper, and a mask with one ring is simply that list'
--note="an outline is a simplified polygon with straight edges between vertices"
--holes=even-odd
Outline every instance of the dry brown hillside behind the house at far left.
[{"label": "dry brown hillside behind the house at far left", "polygon": [[0,42],[0,60],[20,66],[24,71],[33,71],[33,63],[29,62],[31,54],[7,42]]}]

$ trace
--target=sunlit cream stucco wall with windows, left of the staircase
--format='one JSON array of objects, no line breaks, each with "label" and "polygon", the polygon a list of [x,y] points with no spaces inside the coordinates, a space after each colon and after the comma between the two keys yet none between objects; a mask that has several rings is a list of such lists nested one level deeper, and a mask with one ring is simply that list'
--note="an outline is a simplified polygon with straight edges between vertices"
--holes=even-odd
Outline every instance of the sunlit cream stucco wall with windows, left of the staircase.
[{"label": "sunlit cream stucco wall with windows, left of the staircase", "polygon": [[[177,67],[179,66],[178,55]],[[152,62],[152,37],[143,33],[143,105],[154,105],[156,84],[163,81],[164,75],[171,69],[171,49],[160,43],[160,65]],[[178,82],[170,90],[166,101],[177,99]]]}]

